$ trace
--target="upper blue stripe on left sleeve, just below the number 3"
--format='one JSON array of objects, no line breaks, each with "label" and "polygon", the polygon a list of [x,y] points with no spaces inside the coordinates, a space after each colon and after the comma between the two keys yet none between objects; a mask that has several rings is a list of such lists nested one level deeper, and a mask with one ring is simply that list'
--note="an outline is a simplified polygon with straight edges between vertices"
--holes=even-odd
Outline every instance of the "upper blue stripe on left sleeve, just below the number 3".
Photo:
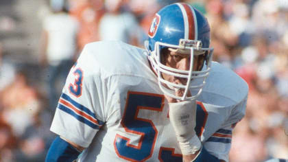
[{"label": "upper blue stripe on left sleeve, just below the number 3", "polygon": [[100,126],[104,125],[104,122],[102,122],[102,121],[100,121],[99,119],[96,118],[95,113],[91,112],[88,108],[86,108],[82,104],[79,104],[79,103],[75,102],[71,97],[69,97],[69,95],[66,95],[65,93],[62,93],[60,98],[66,100],[67,102],[69,102],[70,104],[75,106],[75,108],[79,109],[80,111],[86,113],[87,115],[89,115],[90,117],[95,119],[97,121],[97,124],[99,124]]}]

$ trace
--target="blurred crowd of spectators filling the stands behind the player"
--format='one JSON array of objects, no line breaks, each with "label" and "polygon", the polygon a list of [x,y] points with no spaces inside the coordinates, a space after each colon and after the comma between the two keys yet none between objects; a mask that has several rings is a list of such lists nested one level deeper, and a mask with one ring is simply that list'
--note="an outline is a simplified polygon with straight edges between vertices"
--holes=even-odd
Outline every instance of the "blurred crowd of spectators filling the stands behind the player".
[{"label": "blurred crowd of spectators filling the stands behind the player", "polygon": [[[152,16],[173,2],[190,3],[207,16],[213,60],[248,82],[247,111],[233,131],[230,161],[288,159],[287,0],[46,2],[37,13],[42,34],[33,68],[2,52],[0,34],[0,162],[44,161],[55,137],[49,126],[58,97],[84,45],[122,40],[143,47]],[[0,32],[10,22],[0,19]]]}]

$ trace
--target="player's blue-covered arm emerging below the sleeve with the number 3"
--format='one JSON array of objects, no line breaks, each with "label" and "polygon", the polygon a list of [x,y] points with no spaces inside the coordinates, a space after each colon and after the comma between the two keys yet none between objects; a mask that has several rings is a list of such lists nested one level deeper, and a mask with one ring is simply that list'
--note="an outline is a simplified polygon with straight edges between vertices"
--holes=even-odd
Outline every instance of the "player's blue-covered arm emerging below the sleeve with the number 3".
[{"label": "player's blue-covered arm emerging below the sleeve with the number 3", "polygon": [[74,161],[83,150],[84,148],[76,143],[58,136],[51,144],[45,161]]}]

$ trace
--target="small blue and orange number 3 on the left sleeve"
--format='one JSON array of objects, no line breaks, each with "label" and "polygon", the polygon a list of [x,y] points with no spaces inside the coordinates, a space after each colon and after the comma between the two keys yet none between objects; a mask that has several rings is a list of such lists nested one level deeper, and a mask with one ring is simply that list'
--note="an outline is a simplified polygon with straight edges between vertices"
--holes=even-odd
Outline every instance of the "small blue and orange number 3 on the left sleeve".
[{"label": "small blue and orange number 3 on the left sleeve", "polygon": [[77,68],[73,72],[75,76],[74,84],[69,84],[69,92],[75,97],[80,97],[82,95],[82,81],[83,81],[83,71]]}]

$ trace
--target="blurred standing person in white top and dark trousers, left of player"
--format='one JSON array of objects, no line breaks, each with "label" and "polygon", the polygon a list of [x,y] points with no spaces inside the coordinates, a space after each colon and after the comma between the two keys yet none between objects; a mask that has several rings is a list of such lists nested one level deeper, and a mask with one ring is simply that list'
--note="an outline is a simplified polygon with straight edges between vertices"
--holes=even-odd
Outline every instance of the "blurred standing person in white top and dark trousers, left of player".
[{"label": "blurred standing person in white top and dark trousers, left of player", "polygon": [[[40,64],[48,66],[47,95],[49,108],[54,111],[60,96],[57,87],[64,84],[69,69],[77,57],[77,33],[79,24],[68,14],[67,1],[51,0],[51,15],[43,21],[43,43]],[[56,86],[58,84],[58,86]]]}]

